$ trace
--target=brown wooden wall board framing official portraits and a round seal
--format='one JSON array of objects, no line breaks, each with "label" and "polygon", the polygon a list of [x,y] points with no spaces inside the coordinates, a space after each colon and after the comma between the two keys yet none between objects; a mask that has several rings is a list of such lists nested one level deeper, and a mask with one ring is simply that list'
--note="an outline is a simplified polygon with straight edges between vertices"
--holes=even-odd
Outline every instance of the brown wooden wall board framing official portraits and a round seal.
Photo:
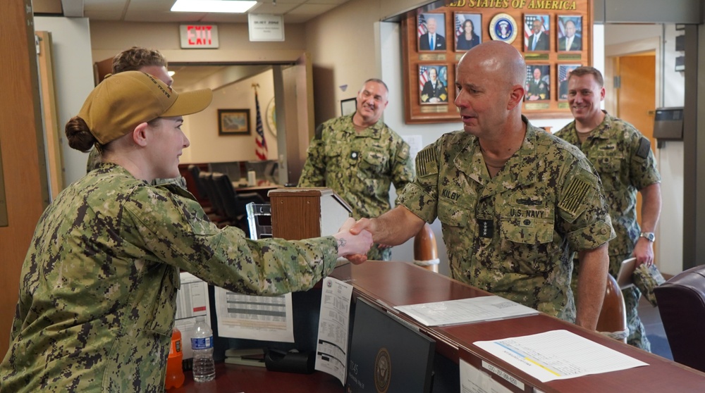
[{"label": "brown wooden wall board framing official portraits and a round seal", "polygon": [[[472,2],[453,1],[448,6],[436,7],[433,11],[417,11],[407,13],[401,20],[402,32],[402,62],[403,62],[403,86],[404,86],[404,120],[407,124],[423,123],[460,123],[458,108],[455,107],[455,73],[458,61],[465,51],[456,50],[456,37],[461,31],[462,21],[457,15],[481,14],[482,42],[499,39],[507,42],[520,51],[524,56],[527,66],[549,66],[548,77],[548,99],[539,101],[523,101],[522,114],[529,120],[546,118],[569,118],[571,115],[567,101],[558,98],[560,87],[557,80],[559,64],[582,64],[590,66],[592,63],[592,20],[593,20],[594,0],[568,1],[556,9],[544,9],[532,6],[532,2],[508,3],[511,6],[504,6],[501,2],[493,3],[493,6],[482,8],[473,6]],[[419,45],[419,15],[445,15],[445,29],[441,35],[446,37],[446,50],[421,50]],[[525,16],[541,15],[547,18],[544,20],[544,30],[547,29],[546,39],[548,39],[548,50],[527,51],[524,37],[529,35],[526,29]],[[582,40],[582,50],[580,51],[559,51],[558,36],[562,34],[558,17],[562,20],[568,18],[579,18],[582,25],[580,32]],[[500,18],[501,17],[501,18]],[[511,27],[512,38],[493,37],[496,36],[496,24],[499,21]],[[493,25],[493,21],[495,21]],[[439,23],[440,29],[441,23]],[[546,25],[548,27],[546,27]],[[477,26],[479,27],[479,26]],[[422,100],[422,89],[419,87],[419,74],[422,66],[439,67],[447,66],[448,99],[439,103],[429,105]]]}]

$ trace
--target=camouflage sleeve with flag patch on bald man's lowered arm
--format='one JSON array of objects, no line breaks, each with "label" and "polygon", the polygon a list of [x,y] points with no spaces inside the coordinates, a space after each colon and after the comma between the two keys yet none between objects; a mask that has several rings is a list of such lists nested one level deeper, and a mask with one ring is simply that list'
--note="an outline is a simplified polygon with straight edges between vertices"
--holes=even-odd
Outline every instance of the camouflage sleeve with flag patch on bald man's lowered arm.
[{"label": "camouflage sleeve with flag patch on bald man's lowered arm", "polygon": [[558,194],[558,215],[571,249],[589,250],[615,237],[600,178],[587,158],[574,157]]}]

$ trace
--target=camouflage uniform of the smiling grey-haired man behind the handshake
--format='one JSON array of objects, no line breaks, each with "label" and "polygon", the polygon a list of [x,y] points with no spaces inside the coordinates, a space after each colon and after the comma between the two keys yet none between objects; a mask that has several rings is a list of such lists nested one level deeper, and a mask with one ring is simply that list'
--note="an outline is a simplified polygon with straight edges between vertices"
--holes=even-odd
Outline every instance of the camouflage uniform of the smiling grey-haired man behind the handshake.
[{"label": "camouflage uniform of the smiling grey-haired man behind the handshake", "polygon": [[[353,218],[380,216],[391,208],[389,187],[400,192],[414,179],[409,144],[381,120],[355,132],[353,115],[319,125],[308,147],[298,187],[328,187],[353,208]],[[388,261],[391,249],[376,244],[367,258]]]}]

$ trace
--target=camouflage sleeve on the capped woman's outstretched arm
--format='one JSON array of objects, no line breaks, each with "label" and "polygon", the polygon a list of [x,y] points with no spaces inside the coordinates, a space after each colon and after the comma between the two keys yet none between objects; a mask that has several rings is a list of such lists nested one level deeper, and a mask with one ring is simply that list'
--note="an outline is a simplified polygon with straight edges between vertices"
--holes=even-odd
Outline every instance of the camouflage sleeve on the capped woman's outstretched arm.
[{"label": "camouflage sleeve on the capped woman's outstretched arm", "polygon": [[159,187],[143,188],[148,195],[135,200],[154,203],[125,209],[145,247],[164,263],[213,285],[243,294],[284,294],[309,289],[336,266],[333,237],[247,239],[236,227],[216,227],[196,201]]}]

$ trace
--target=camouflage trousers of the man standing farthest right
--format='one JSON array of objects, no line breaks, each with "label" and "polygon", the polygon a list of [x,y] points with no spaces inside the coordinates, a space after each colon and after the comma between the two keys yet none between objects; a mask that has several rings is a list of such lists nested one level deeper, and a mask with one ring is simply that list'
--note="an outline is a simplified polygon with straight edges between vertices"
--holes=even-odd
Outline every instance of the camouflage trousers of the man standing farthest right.
[{"label": "camouflage trousers of the man standing farthest right", "polygon": [[[609,272],[612,277],[617,277],[620,264],[622,263],[622,261],[629,257],[629,255],[610,256]],[[577,297],[577,272],[580,269],[580,263],[577,259],[573,260],[573,263],[575,265],[573,266],[570,287],[572,289],[573,295]],[[637,311],[637,308],[639,307],[639,297],[641,296],[642,292],[639,292],[639,289],[637,289],[637,287],[629,287],[622,291],[625,311],[627,313],[627,329],[629,330],[629,335],[627,336],[627,344],[630,344],[640,349],[644,349],[644,351],[651,352],[651,343],[649,343],[649,339],[646,337],[646,329],[644,328],[642,319],[639,318],[639,313]]]}]

